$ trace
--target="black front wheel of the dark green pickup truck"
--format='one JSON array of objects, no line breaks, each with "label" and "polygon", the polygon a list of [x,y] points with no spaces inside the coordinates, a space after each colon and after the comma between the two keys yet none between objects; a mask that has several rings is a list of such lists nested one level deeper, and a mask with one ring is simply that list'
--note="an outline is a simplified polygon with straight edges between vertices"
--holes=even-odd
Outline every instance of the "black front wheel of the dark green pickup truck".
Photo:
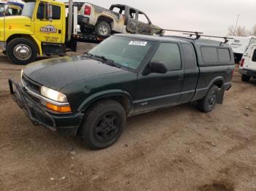
[{"label": "black front wheel of the dark green pickup truck", "polygon": [[86,112],[78,137],[90,149],[105,149],[119,139],[126,122],[127,115],[121,104],[99,101]]}]

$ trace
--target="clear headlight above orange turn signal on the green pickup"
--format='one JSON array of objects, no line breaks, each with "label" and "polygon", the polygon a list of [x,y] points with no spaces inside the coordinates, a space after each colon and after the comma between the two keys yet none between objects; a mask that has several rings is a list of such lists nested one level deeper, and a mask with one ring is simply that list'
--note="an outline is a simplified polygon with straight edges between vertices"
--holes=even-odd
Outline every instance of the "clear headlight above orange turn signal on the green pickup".
[{"label": "clear headlight above orange turn signal on the green pickup", "polygon": [[58,102],[67,102],[67,97],[63,93],[60,93],[56,90],[52,90],[48,87],[42,86],[41,87],[41,95],[45,96],[46,98],[50,98],[54,101]]}]

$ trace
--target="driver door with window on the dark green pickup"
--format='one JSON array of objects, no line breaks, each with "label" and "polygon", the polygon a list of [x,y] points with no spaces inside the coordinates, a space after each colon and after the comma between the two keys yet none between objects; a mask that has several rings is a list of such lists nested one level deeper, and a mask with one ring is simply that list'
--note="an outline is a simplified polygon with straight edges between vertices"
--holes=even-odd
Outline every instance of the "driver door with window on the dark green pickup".
[{"label": "driver door with window on the dark green pickup", "polygon": [[179,103],[184,82],[180,47],[176,43],[159,45],[151,61],[164,63],[166,74],[148,74],[138,76],[135,112],[149,112]]}]

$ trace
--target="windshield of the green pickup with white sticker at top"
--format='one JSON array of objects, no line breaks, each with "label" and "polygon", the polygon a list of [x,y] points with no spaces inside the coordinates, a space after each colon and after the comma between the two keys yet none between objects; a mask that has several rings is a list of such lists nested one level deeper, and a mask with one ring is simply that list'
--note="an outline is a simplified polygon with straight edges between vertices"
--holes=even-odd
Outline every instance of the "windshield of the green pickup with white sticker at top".
[{"label": "windshield of the green pickup with white sticker at top", "polygon": [[89,53],[95,56],[103,56],[125,68],[138,69],[153,44],[154,42],[146,40],[110,36]]}]

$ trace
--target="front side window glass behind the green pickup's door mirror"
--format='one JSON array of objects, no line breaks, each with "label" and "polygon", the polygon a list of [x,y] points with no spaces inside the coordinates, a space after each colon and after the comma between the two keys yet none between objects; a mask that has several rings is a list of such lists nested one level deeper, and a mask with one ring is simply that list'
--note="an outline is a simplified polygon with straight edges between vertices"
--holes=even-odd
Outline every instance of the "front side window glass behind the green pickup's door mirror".
[{"label": "front side window glass behind the green pickup's door mirror", "polygon": [[162,43],[151,61],[158,61],[165,64],[168,71],[181,69],[181,52],[178,44]]}]

